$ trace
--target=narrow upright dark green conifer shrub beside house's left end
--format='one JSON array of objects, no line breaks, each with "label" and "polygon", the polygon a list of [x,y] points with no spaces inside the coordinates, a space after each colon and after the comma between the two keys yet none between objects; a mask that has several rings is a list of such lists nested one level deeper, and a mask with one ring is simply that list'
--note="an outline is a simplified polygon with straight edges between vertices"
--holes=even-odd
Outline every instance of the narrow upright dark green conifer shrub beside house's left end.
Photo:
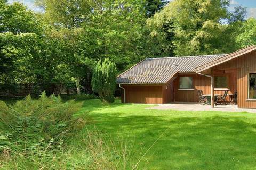
[{"label": "narrow upright dark green conifer shrub beside house's left end", "polygon": [[92,76],[92,89],[97,92],[103,102],[114,102],[116,89],[116,65],[109,58],[99,61]]}]

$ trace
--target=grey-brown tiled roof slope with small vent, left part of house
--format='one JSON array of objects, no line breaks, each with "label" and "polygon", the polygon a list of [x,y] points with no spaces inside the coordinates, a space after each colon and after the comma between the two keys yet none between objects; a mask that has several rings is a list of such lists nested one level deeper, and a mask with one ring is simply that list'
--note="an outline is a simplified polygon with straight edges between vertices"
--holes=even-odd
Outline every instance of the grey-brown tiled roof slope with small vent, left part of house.
[{"label": "grey-brown tiled roof slope with small vent, left part of house", "polygon": [[194,72],[196,67],[224,56],[226,54],[147,58],[118,75],[116,81],[118,84],[165,84],[178,72]]}]

